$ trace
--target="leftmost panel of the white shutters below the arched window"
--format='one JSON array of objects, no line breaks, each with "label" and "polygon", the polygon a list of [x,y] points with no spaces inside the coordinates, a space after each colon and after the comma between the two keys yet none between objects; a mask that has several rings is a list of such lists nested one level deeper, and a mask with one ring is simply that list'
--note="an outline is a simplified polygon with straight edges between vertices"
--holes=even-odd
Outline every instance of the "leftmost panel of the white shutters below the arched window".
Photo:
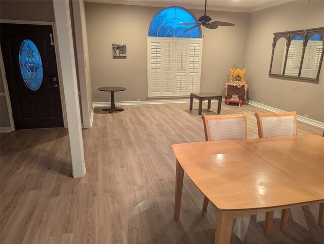
[{"label": "leftmost panel of the white shutters below the arched window", "polygon": [[161,94],[161,43],[149,44],[149,87],[151,94]]}]

